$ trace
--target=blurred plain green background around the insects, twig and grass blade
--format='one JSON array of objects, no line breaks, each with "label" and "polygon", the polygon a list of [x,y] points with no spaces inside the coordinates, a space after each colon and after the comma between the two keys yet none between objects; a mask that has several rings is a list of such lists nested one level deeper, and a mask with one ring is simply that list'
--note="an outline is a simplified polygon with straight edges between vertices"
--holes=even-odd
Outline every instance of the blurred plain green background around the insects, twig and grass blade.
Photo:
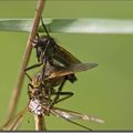
[{"label": "blurred plain green background around the insects, twig and grass blade", "polygon": [[[35,6],[35,0],[0,1],[0,19],[33,18]],[[48,0],[43,17],[133,19],[133,2]],[[0,124],[7,117],[28,35],[0,31]],[[58,106],[102,117],[105,124],[78,121],[96,131],[133,130],[133,34],[52,35],[82,62],[99,63],[93,70],[78,73],[75,84],[66,83],[64,90],[74,92],[74,96]],[[29,65],[35,61],[33,51]],[[17,112],[28,103],[28,82],[25,79]],[[45,116],[45,123],[50,131],[83,130],[52,115]],[[20,130],[33,129],[33,116],[27,113]]]}]

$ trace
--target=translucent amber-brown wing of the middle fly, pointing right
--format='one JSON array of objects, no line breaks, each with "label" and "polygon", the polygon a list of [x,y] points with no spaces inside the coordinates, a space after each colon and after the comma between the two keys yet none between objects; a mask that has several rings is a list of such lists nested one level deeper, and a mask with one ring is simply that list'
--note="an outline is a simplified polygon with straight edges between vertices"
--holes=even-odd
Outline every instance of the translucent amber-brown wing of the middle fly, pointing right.
[{"label": "translucent amber-brown wing of the middle fly, pointing right", "polygon": [[95,66],[98,66],[96,63],[71,64],[68,68],[62,68],[62,69],[59,69],[59,70],[51,72],[51,74],[48,78],[45,78],[45,80],[73,74],[75,72],[86,71],[86,70],[93,69]]}]

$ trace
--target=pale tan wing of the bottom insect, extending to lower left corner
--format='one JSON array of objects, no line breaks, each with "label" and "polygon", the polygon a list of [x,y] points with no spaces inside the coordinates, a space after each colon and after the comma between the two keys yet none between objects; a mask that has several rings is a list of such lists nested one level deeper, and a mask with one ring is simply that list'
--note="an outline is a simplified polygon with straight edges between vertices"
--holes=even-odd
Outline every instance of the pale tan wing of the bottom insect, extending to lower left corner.
[{"label": "pale tan wing of the bottom insect, extending to lower left corner", "polygon": [[14,116],[11,121],[7,121],[3,126],[1,127],[2,131],[16,131],[21,121],[22,121],[22,116],[24,115],[24,113],[28,111],[28,108],[25,106],[17,116]]}]

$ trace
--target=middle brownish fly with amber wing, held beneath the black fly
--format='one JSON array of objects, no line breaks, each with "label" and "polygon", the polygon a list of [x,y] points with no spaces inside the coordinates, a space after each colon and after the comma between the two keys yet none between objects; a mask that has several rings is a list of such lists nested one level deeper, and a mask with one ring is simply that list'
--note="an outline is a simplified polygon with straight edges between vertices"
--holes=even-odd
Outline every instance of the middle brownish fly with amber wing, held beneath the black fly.
[{"label": "middle brownish fly with amber wing, held beneath the black fly", "polygon": [[[28,73],[25,74],[31,80],[29,86],[31,86],[33,90],[43,88],[44,90],[47,90],[45,92],[48,93],[47,95],[49,95],[49,98],[51,98],[51,95],[54,95],[54,99],[51,102],[51,105],[53,105],[57,102],[65,100],[73,95],[72,92],[62,92],[62,88],[64,86],[64,83],[66,81],[66,75],[73,74],[75,72],[86,71],[93,69],[94,66],[96,66],[95,63],[71,64],[70,66],[65,68],[59,65],[53,66],[50,63],[47,63],[43,80],[41,79],[42,71],[38,72],[33,79],[31,79]],[[55,86],[58,86],[58,90],[54,89]],[[60,96],[63,98],[60,99]]]}]

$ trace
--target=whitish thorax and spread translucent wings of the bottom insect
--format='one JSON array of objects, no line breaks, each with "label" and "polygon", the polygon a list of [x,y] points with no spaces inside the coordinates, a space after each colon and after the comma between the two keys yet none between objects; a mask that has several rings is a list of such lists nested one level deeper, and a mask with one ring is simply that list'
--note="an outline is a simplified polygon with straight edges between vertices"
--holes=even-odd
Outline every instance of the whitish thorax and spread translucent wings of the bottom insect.
[{"label": "whitish thorax and spread translucent wings of the bottom insect", "polygon": [[75,111],[70,111],[70,110],[65,110],[57,106],[52,106],[50,109],[49,106],[44,106],[43,104],[41,104],[41,102],[38,100],[33,100],[33,101],[30,100],[29,104],[20,113],[18,113],[7,126],[3,125],[1,130],[2,131],[18,130],[18,126],[20,126],[20,122],[22,122],[22,117],[27,112],[31,112],[32,114],[35,114],[35,115],[47,115],[47,116],[50,116],[50,114],[52,114],[57,117],[61,117],[88,131],[93,131],[93,130],[75,121],[82,120],[82,121],[96,122],[100,124],[104,123],[104,120],[99,119],[96,116],[92,116],[92,115],[88,115],[88,114],[83,114],[83,113],[79,113]]}]

